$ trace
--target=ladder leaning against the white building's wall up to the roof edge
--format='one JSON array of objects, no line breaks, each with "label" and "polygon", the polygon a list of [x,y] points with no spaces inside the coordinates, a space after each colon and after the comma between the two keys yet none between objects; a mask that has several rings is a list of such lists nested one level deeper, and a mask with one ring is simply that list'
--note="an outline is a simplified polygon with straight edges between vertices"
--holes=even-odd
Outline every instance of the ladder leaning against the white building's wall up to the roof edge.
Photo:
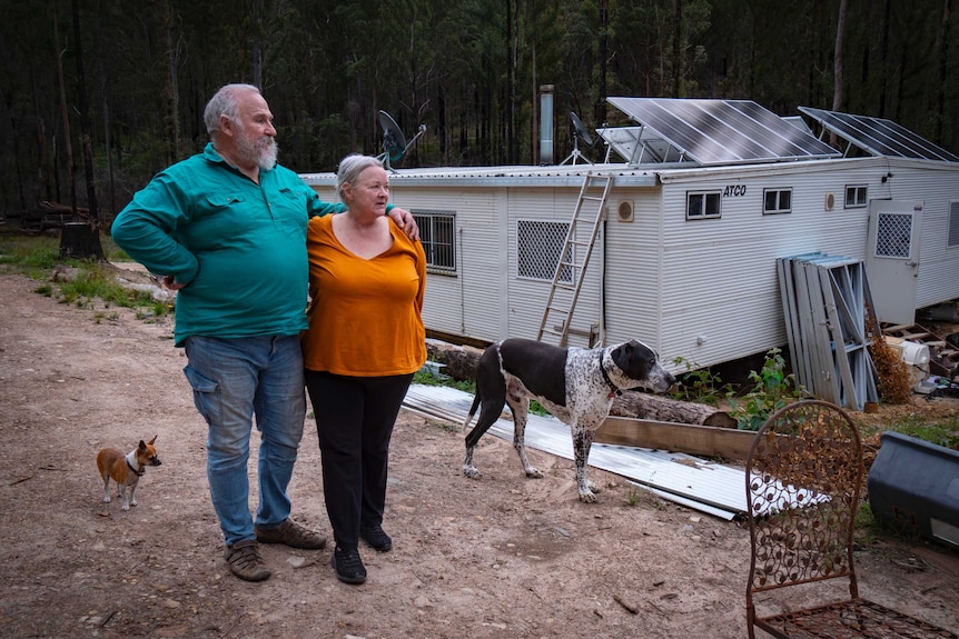
[{"label": "ladder leaning against the white building's wall up to the roof edge", "polygon": [[[556,272],[553,274],[550,298],[546,300],[546,309],[543,311],[543,320],[540,322],[540,331],[536,335],[538,341],[543,341],[544,336],[551,336],[557,340],[556,346],[566,346],[570,337],[570,320],[580,298],[583,274],[586,272],[586,266],[593,254],[593,244],[600,232],[600,222],[605,219],[606,198],[612,184],[613,176],[609,173],[586,172],[586,178],[580,188],[573,219],[570,221],[570,230],[566,232],[566,239],[560,252]],[[581,222],[592,224],[589,240],[577,239],[577,229]]]}]

